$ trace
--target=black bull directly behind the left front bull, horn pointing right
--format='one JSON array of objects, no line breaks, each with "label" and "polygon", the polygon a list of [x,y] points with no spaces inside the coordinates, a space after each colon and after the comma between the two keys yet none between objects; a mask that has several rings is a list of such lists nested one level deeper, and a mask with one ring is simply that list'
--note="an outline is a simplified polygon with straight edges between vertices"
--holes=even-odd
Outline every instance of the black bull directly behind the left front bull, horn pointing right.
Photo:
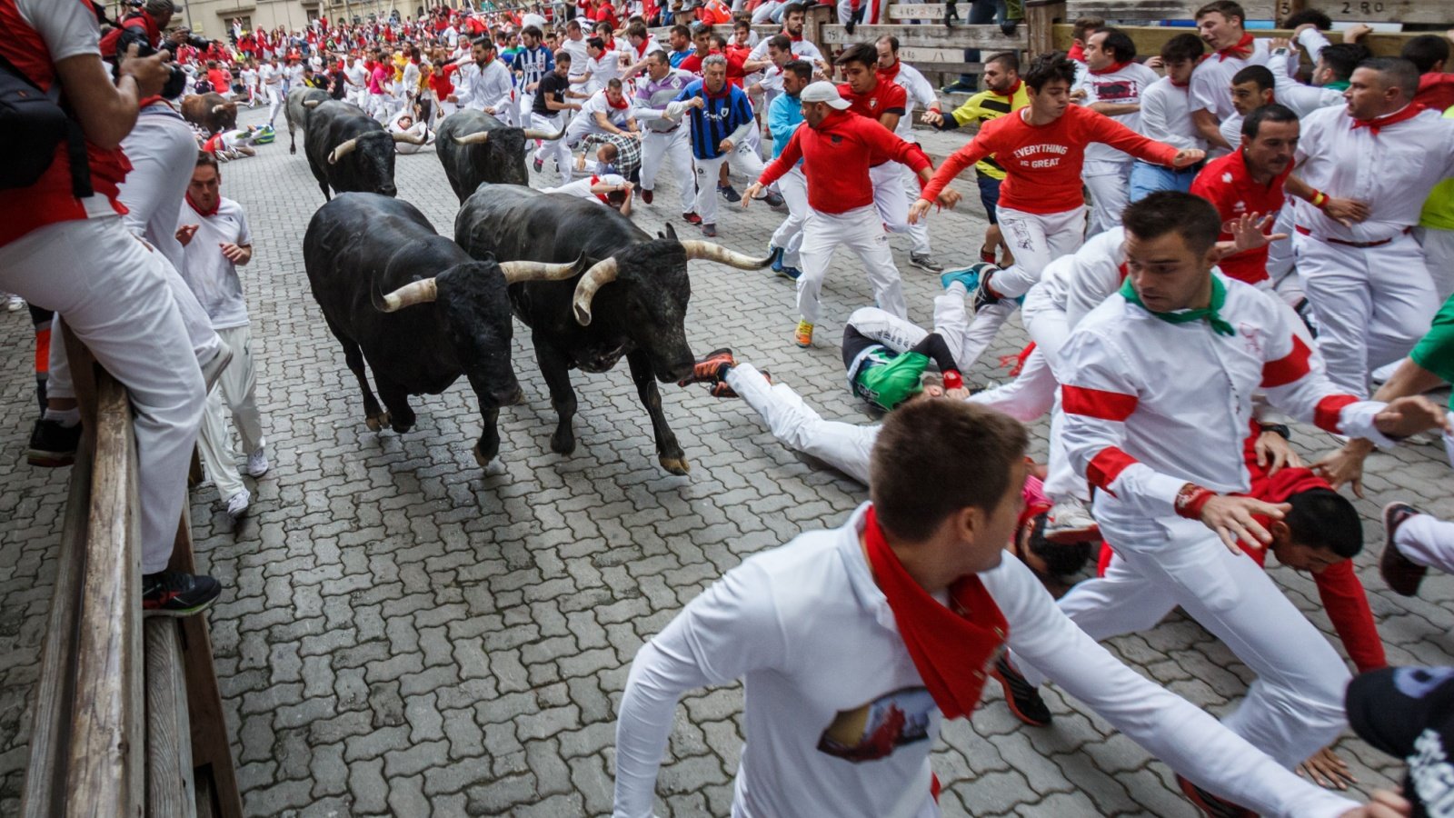
[{"label": "black bull directly behind the left front bull, horn pointing right", "polygon": [[411,134],[390,134],[356,105],[330,99],[308,114],[302,150],[324,199],[330,189],[393,196],[394,143],[423,144]]}]

